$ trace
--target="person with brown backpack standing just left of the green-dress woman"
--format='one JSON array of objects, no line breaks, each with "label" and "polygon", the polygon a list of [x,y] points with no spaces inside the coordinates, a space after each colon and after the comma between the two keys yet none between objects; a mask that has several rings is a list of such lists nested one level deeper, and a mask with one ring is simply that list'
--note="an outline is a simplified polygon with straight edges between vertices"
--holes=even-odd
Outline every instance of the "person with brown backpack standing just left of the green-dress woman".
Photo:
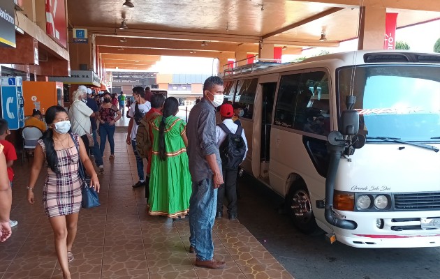
[{"label": "person with brown backpack standing just left of the green-dress woman", "polygon": [[138,132],[136,133],[136,149],[140,158],[147,158],[147,177],[145,179],[145,197],[149,197],[149,174],[152,168],[152,146],[153,146],[153,130],[149,124],[156,119],[157,116],[162,115],[162,107],[165,102],[165,96],[162,94],[153,95],[151,98],[152,108],[145,114],[140,121]]}]

